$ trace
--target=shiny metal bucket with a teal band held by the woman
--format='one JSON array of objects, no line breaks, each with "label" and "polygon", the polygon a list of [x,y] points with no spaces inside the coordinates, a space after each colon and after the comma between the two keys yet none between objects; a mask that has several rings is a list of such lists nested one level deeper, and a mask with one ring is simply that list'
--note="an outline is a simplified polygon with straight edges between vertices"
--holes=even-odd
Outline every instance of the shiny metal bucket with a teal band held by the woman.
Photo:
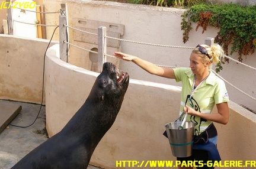
[{"label": "shiny metal bucket with a teal band held by the woman", "polygon": [[185,122],[184,128],[178,127],[182,122],[171,122],[165,125],[169,144],[174,157],[189,157],[192,155],[194,139],[194,123]]}]

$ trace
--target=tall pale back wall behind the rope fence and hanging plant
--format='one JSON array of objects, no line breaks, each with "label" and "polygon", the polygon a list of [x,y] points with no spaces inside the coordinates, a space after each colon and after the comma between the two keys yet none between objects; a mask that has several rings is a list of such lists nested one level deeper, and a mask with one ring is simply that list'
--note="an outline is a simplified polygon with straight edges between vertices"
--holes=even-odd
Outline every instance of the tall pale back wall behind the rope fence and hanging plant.
[{"label": "tall pale back wall behind the rope fence and hanging plant", "polygon": [[[196,25],[193,24],[193,31],[190,34],[190,40],[183,44],[181,31],[181,14],[184,9],[164,8],[159,6],[149,5],[133,5],[120,4],[117,2],[106,1],[50,1],[44,0],[46,11],[57,11],[60,4],[66,2],[68,6],[68,22],[71,27],[75,27],[75,18],[88,19],[100,22],[110,22],[124,25],[124,34],[121,39],[133,40],[153,44],[166,44],[182,47],[196,47],[197,44],[203,44],[205,38],[215,37],[217,31],[213,27],[207,28],[204,34],[201,34],[201,28],[196,32]],[[46,15],[47,24],[57,24],[58,15]],[[47,37],[52,35],[54,27],[47,27]],[[74,40],[75,31],[69,29],[69,40],[72,44],[81,47],[87,46],[86,43],[81,43]],[[97,37],[95,37],[97,38]],[[59,40],[58,31],[55,34],[55,39]],[[143,45],[135,43],[120,42],[121,51],[133,54],[151,61],[155,64],[164,66],[189,66],[189,56],[191,49],[188,48],[169,48],[156,47],[152,45]],[[90,50],[91,48],[87,48]],[[70,48],[71,64],[81,66],[82,63],[89,60],[89,52],[79,48]],[[107,48],[107,54],[113,54],[113,49]],[[237,58],[238,54],[234,53],[232,58]],[[243,63],[249,66],[256,67],[256,54],[244,57]],[[88,67],[84,67],[88,69]],[[164,83],[167,85],[178,85],[173,80],[165,79],[158,76],[152,76],[145,73],[133,63],[120,61],[120,68],[124,71],[129,71],[133,79],[148,80],[151,82]],[[232,85],[238,87],[252,97],[256,98],[255,86],[255,70],[249,69],[241,64],[236,64],[234,61],[223,65],[223,70],[219,73]],[[255,100],[245,96],[232,86],[226,85],[229,92],[229,97],[239,105],[245,105],[247,108],[256,111]]]}]

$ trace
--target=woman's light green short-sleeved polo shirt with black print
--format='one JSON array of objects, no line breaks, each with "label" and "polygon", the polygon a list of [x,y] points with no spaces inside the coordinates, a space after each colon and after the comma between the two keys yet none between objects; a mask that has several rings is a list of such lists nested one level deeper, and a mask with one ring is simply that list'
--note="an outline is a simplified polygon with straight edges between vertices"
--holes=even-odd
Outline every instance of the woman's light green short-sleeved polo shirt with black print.
[{"label": "woman's light green short-sleeved polo shirt with black print", "polygon": [[[190,98],[191,90],[193,87],[194,74],[190,68],[184,67],[174,69],[174,73],[176,82],[182,82],[180,106],[181,115],[185,103],[191,107],[190,103],[188,102],[188,98]],[[201,83],[191,98],[193,109],[200,113],[212,113],[213,106],[228,101],[229,97],[225,83],[213,72],[210,72],[207,79]],[[186,121],[194,122],[194,135],[201,134],[201,132],[203,132],[210,124],[212,124],[212,121],[207,121],[206,119],[192,115],[187,115]]]}]

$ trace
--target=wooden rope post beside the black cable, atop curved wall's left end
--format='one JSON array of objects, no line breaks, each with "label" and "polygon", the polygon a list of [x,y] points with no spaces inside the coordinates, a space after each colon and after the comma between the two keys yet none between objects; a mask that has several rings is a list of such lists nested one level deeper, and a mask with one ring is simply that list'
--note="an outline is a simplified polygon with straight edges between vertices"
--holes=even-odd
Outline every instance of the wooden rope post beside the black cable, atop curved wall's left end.
[{"label": "wooden rope post beside the black cable, atop curved wall's left end", "polygon": [[64,41],[67,41],[67,29],[64,26],[66,24],[66,16],[65,15],[59,15],[59,45],[60,45],[60,60],[63,60],[65,62],[68,61],[67,59],[67,50],[68,45],[64,43]]}]

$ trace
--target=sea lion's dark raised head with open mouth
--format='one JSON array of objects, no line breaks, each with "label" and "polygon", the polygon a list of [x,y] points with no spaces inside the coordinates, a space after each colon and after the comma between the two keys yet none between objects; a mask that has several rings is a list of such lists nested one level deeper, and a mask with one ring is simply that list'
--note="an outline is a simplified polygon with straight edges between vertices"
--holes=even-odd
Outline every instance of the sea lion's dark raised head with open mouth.
[{"label": "sea lion's dark raised head with open mouth", "polygon": [[101,102],[104,104],[103,107],[108,106],[108,109],[111,106],[114,112],[118,112],[128,85],[129,74],[117,69],[113,63],[106,62],[88,98],[93,98],[97,104]]}]

